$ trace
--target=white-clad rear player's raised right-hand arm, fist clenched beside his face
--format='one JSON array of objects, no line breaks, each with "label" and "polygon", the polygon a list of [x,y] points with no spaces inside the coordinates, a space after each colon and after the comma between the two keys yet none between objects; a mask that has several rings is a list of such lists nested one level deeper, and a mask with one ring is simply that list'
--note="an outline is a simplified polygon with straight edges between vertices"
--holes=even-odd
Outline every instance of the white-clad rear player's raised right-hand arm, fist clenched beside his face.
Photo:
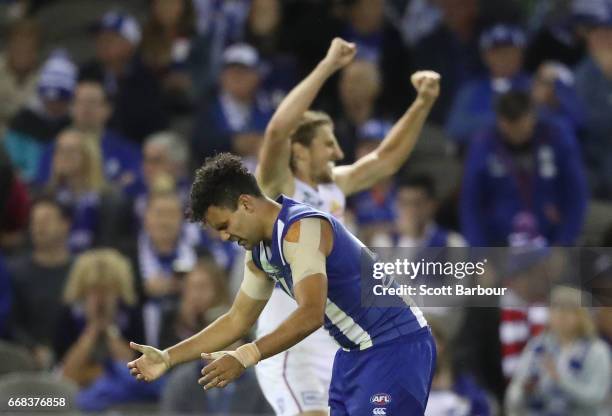
[{"label": "white-clad rear player's raised right-hand arm, fist clenched beside his face", "polygon": [[440,76],[433,71],[419,71],[413,74],[412,82],[417,98],[380,145],[352,165],[334,168],[334,181],[345,195],[370,188],[394,175],[410,156],[440,93]]}]

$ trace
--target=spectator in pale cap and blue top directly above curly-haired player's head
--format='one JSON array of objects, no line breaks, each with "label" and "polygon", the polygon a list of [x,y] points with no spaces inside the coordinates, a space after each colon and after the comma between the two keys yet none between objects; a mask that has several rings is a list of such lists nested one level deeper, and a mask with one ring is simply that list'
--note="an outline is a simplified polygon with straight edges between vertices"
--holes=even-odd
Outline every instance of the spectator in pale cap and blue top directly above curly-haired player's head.
[{"label": "spectator in pale cap and blue top directly above curly-haired player's head", "polygon": [[223,53],[219,89],[202,103],[192,137],[194,162],[215,152],[234,152],[251,161],[257,157],[271,109],[259,94],[259,54],[250,45],[235,44]]}]

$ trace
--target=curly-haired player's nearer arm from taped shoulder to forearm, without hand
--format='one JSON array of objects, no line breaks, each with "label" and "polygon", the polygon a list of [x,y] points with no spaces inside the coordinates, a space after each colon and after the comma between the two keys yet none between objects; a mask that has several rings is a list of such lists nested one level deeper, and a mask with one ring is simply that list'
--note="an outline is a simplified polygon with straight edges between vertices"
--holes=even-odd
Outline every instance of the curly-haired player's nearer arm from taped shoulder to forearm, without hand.
[{"label": "curly-haired player's nearer arm from taped shoulder to forearm, without hand", "polygon": [[262,359],[291,348],[323,325],[326,257],[332,246],[331,226],[319,218],[303,219],[287,232],[283,247],[291,266],[298,308],[273,332],[255,341]]}]

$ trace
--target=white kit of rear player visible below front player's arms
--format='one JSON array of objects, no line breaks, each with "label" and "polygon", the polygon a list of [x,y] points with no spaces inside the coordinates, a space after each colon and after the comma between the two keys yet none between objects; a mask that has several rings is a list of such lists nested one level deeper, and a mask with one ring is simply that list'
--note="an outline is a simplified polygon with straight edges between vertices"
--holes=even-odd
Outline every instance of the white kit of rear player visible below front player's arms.
[{"label": "white kit of rear player visible below front player's arms", "polygon": [[[297,304],[280,289],[259,317],[257,337],[269,334]],[[299,344],[255,366],[257,381],[277,416],[294,416],[306,411],[327,411],[334,356],[338,344],[323,328]]]}]

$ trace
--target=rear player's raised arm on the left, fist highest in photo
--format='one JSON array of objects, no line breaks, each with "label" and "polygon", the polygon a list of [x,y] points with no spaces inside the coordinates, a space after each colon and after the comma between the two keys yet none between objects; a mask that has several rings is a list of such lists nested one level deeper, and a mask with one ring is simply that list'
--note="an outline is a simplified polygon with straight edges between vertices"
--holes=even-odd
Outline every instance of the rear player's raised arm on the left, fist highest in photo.
[{"label": "rear player's raised arm on the left, fist highest in photo", "polygon": [[269,197],[292,193],[291,142],[289,136],[298,126],[302,115],[310,108],[325,81],[348,64],[356,48],[340,38],[332,41],[327,55],[280,103],[270,120],[259,154],[257,181]]}]

